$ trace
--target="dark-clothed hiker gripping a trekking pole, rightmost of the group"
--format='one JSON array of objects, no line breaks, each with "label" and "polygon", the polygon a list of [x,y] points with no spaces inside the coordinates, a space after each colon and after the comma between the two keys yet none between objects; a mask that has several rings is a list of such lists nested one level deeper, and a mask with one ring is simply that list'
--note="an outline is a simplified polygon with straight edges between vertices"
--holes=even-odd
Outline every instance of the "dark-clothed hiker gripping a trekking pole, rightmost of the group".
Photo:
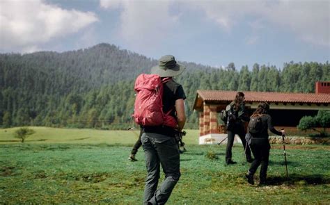
[{"label": "dark-clothed hiker gripping a trekking pole, rightmost of the group", "polygon": [[[253,175],[256,173],[258,166],[261,164],[260,168],[260,185],[265,185],[267,177],[267,167],[269,162],[269,140],[268,140],[268,129],[272,133],[282,136],[285,134],[284,130],[277,131],[272,125],[272,117],[269,113],[269,104],[267,102],[262,102],[258,105],[256,111],[251,115],[251,120],[249,126],[257,126],[257,123],[251,122],[252,120],[261,120],[261,129],[255,129],[251,133],[251,150],[254,156],[254,160],[251,163],[250,169],[246,174],[246,178],[250,184],[254,184]],[[253,128],[251,128],[253,129]],[[258,132],[257,132],[258,131]]]}]

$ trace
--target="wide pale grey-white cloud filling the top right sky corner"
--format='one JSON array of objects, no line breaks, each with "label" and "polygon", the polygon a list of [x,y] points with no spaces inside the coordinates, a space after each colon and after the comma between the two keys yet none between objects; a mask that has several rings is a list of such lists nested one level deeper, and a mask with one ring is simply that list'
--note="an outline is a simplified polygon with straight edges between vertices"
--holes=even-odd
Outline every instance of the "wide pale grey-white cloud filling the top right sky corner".
[{"label": "wide pale grey-white cloud filling the top right sky corner", "polygon": [[253,32],[267,24],[291,31],[304,42],[330,46],[330,1],[327,0],[192,1],[189,4],[202,9],[207,18],[228,33],[238,22],[250,17],[257,19],[250,24]]}]

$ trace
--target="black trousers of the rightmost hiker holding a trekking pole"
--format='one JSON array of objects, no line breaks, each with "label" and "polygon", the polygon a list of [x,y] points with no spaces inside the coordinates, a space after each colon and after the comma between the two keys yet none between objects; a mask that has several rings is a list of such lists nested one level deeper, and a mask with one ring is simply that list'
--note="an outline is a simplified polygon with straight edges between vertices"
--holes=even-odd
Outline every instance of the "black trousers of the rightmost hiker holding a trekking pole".
[{"label": "black trousers of the rightmost hiker holding a trekking pole", "polygon": [[260,181],[265,182],[269,162],[269,142],[267,141],[266,143],[260,145],[251,144],[250,147],[254,156],[254,161],[251,163],[249,174],[255,174],[259,165],[261,164]]}]

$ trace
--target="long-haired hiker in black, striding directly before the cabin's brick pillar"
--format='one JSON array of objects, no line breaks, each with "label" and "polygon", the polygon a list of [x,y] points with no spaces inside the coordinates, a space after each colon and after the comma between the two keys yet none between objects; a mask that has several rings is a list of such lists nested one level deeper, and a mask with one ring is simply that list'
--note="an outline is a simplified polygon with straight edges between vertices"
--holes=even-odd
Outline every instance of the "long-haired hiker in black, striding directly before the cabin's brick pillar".
[{"label": "long-haired hiker in black, striding directly before the cabin's brick pillar", "polygon": [[[230,110],[233,110],[233,113],[235,115],[234,122],[230,122],[230,125],[227,126],[227,134],[228,134],[228,140],[227,140],[227,147],[226,147],[226,164],[227,165],[233,165],[236,162],[232,160],[232,147],[234,144],[234,138],[235,134],[239,136],[239,138],[242,140],[243,148],[246,155],[246,161],[251,163],[253,159],[251,158],[251,150],[249,147],[246,146],[246,140],[245,140],[245,126],[244,122],[249,121],[249,117],[246,115],[246,109],[245,109],[245,103],[244,103],[244,93],[243,92],[237,92],[235,100],[232,101],[229,106]],[[228,120],[229,120],[228,115]]]}]

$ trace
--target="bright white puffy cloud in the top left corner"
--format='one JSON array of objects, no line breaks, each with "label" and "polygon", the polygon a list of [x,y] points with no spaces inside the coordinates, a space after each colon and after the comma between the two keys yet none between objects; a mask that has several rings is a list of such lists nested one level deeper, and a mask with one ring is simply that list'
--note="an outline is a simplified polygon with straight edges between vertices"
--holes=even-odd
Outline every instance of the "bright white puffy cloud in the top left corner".
[{"label": "bright white puffy cloud in the top left corner", "polygon": [[94,13],[65,10],[42,0],[4,0],[0,6],[3,50],[36,51],[42,44],[77,33],[98,20]]}]

